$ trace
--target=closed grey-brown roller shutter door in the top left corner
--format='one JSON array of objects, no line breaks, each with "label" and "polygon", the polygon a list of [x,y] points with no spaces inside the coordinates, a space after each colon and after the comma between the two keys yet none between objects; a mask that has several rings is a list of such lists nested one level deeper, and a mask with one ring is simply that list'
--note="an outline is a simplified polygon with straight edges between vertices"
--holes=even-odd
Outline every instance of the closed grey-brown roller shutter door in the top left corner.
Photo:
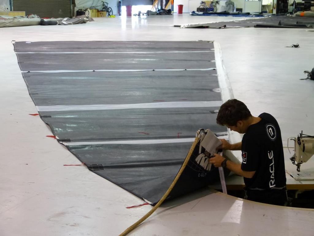
[{"label": "closed grey-brown roller shutter door in the top left corner", "polygon": [[14,11],[25,11],[25,15],[39,17],[71,17],[71,0],[13,0]]}]

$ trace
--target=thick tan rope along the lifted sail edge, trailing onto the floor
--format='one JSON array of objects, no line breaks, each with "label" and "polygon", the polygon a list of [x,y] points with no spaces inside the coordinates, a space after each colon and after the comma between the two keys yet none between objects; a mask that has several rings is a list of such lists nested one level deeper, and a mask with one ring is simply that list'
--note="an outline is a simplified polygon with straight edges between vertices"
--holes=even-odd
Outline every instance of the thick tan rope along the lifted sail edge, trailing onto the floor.
[{"label": "thick tan rope along the lifted sail edge, trailing onto the floor", "polygon": [[119,236],[125,236],[128,233],[130,233],[133,229],[138,227],[140,223],[142,223],[144,220],[146,220],[151,214],[156,211],[156,209],[163,203],[163,201],[168,197],[170,194],[172,188],[175,186],[176,182],[178,181],[179,177],[181,176],[182,172],[184,171],[185,167],[187,166],[188,161],[190,160],[192,153],[196,147],[196,144],[198,143],[199,138],[195,138],[194,143],[192,144],[192,147],[190,148],[189,153],[187,154],[186,159],[184,160],[178,174],[176,175],[175,179],[171,183],[170,187],[168,188],[167,192],[162,196],[162,198],[158,201],[158,203],[148,212],[145,216],[143,216],[141,219],[139,219],[137,222],[135,222],[133,225],[131,225],[129,228],[127,228],[123,233],[119,234]]}]

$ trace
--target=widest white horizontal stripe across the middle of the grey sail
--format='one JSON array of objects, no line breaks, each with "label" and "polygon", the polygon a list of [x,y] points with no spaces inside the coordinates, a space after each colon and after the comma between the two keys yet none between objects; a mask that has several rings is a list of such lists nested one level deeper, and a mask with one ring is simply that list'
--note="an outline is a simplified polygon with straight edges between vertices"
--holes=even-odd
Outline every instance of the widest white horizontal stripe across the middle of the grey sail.
[{"label": "widest white horizontal stripe across the middle of the grey sail", "polygon": [[156,102],[135,104],[94,104],[94,105],[55,105],[36,106],[38,111],[87,111],[87,110],[120,110],[145,108],[183,108],[183,107],[219,107],[222,101],[196,102]]}]

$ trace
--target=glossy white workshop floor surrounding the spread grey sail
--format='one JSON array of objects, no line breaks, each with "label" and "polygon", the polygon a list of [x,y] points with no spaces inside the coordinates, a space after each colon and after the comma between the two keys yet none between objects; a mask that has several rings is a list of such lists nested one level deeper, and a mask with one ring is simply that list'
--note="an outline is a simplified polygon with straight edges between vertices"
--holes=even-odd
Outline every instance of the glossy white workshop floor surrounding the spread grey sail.
[{"label": "glossy white workshop floor surrounding the spread grey sail", "polygon": [[[253,115],[269,112],[287,140],[314,134],[314,32],[304,29],[181,29],[173,25],[234,20],[188,14],[95,18],[69,26],[0,28],[0,235],[114,236],[151,206],[88,171],[50,135],[30,99],[13,50],[15,41],[215,40],[235,98]],[[236,18],[239,20],[239,18]],[[299,43],[300,48],[285,48]],[[284,143],[284,146],[285,143]],[[292,146],[292,143],[290,144]],[[294,169],[285,150],[286,168]],[[312,169],[314,160],[301,165]],[[314,211],[254,203],[203,189],[160,207],[130,235],[313,235]]]}]

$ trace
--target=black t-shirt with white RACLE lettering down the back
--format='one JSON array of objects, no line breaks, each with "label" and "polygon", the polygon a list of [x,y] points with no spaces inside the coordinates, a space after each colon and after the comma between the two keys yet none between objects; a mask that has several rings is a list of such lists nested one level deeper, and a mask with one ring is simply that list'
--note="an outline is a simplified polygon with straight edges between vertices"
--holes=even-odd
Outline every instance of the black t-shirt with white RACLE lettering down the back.
[{"label": "black t-shirt with white RACLE lettering down the back", "polygon": [[284,150],[276,119],[268,114],[250,125],[242,138],[243,171],[256,171],[253,178],[244,178],[247,188],[270,189],[286,186]]}]

